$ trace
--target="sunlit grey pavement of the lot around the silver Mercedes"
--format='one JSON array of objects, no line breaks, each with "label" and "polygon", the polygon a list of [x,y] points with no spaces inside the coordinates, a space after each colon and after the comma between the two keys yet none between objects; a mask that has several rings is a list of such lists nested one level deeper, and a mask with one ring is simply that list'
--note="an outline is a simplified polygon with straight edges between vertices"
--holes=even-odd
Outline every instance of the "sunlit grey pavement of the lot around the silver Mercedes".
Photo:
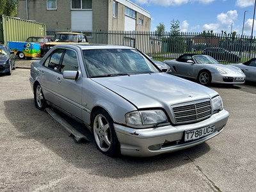
[{"label": "sunlit grey pavement of the lot around the silver Mercedes", "polygon": [[215,138],[150,158],[101,154],[35,108],[33,60],[0,76],[0,191],[256,191],[256,85],[211,86],[229,111]]}]

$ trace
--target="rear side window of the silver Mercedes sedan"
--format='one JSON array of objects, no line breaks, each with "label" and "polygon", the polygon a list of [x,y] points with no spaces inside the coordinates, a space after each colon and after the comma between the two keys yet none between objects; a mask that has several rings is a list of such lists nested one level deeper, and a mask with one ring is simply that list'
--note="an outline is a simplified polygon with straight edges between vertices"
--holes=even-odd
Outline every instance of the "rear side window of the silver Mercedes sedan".
[{"label": "rear side window of the silver Mercedes sedan", "polygon": [[60,72],[60,61],[64,51],[64,49],[56,49],[47,60],[45,60],[44,66]]}]

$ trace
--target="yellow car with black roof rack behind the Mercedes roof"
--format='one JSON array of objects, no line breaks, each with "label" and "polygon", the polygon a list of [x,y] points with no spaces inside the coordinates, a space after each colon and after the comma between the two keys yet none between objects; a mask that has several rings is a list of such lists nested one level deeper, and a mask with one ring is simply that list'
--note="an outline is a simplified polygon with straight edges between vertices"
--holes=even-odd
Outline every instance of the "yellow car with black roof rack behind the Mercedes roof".
[{"label": "yellow car with black roof rack behind the Mercedes roof", "polygon": [[44,52],[49,51],[58,44],[88,44],[86,35],[83,33],[60,32],[54,36],[54,41],[44,45]]}]

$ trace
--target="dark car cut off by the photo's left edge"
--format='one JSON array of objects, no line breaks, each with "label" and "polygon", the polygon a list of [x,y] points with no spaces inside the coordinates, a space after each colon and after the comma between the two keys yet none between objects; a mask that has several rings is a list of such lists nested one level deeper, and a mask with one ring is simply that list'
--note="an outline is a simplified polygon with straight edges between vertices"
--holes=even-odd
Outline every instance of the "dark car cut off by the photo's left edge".
[{"label": "dark car cut off by the photo's left edge", "polygon": [[15,70],[15,54],[6,45],[0,44],[0,74],[12,74]]}]

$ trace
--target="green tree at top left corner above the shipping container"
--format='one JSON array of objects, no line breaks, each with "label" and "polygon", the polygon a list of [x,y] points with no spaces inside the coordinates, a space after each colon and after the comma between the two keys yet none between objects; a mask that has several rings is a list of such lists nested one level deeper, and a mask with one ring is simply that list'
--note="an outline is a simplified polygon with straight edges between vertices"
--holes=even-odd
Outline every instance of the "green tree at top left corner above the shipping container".
[{"label": "green tree at top left corner above the shipping container", "polygon": [[0,15],[17,17],[17,4],[19,0],[0,0]]}]

